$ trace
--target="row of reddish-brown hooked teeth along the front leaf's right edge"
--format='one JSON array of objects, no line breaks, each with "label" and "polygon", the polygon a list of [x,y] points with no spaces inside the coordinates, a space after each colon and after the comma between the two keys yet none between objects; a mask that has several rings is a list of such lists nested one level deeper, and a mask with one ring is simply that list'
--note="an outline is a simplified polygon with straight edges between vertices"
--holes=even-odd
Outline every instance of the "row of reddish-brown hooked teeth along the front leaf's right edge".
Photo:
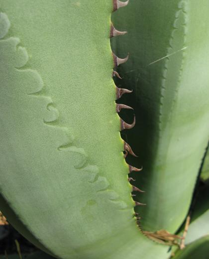
[{"label": "row of reddish-brown hooked teeth along the front leaf's right edge", "polygon": [[[123,6],[126,6],[128,4],[128,1],[125,1],[125,2],[122,2],[122,1],[119,1],[119,0],[113,0],[113,11],[116,11],[118,8],[120,7],[123,7]],[[111,29],[110,29],[110,38],[111,37],[114,37],[114,36],[120,36],[120,35],[123,35],[127,33],[127,31],[118,31],[114,28],[114,26],[112,25],[111,23]],[[128,53],[129,54],[129,53]],[[120,64],[124,63],[127,61],[128,59],[128,54],[126,56],[126,58],[118,58],[114,53],[112,53],[112,56],[113,56],[113,62],[114,62],[114,68],[119,66]],[[113,76],[117,76],[118,78],[122,79],[119,74],[113,70],[112,72],[112,77]],[[131,93],[133,90],[127,90],[127,89],[122,89],[122,88],[117,88],[116,87],[116,99],[118,100],[124,93]],[[116,104],[116,112],[119,113],[121,109],[131,109],[133,110],[133,108],[127,106],[127,105],[124,105],[124,104]],[[120,118],[120,130],[123,130],[123,129],[131,129],[133,128],[135,125],[135,115],[134,115],[134,119],[133,119],[133,123],[132,124],[127,124],[126,122],[124,122],[121,118]],[[133,156],[136,156],[134,154],[134,152],[132,151],[131,147],[129,146],[128,143],[126,143],[124,141],[124,158],[127,156],[127,154],[131,154]],[[128,165],[129,166],[129,172],[132,172],[132,171],[141,171],[142,170],[142,167],[140,169],[136,168],[136,167],[133,167],[131,165]],[[133,178],[128,178],[128,181],[135,181]],[[134,191],[137,191],[137,192],[144,192],[144,191],[141,191],[140,189],[138,189],[137,187],[132,186],[132,192]],[[133,196],[136,196],[135,194],[132,194],[131,195],[132,197]],[[135,206],[139,206],[139,205],[146,205],[146,204],[143,204],[143,203],[140,203],[140,202],[137,202],[137,201],[134,201],[135,203]],[[135,217],[136,217],[136,221],[137,221],[137,224],[139,223],[139,220],[141,218],[137,217],[139,214],[135,213]]]}]

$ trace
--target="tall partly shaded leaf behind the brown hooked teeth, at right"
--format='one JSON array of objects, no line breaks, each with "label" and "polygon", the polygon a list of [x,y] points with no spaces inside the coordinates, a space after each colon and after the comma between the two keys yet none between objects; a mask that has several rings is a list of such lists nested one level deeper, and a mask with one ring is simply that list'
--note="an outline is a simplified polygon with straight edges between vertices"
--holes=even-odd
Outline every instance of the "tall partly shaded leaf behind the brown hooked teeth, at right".
[{"label": "tall partly shaded leaf behind the brown hooked teeth, at right", "polygon": [[136,125],[123,137],[139,158],[135,185],[142,229],[177,231],[185,220],[209,139],[209,1],[130,1],[112,15],[112,49],[129,61],[116,84],[133,89],[124,99]]}]

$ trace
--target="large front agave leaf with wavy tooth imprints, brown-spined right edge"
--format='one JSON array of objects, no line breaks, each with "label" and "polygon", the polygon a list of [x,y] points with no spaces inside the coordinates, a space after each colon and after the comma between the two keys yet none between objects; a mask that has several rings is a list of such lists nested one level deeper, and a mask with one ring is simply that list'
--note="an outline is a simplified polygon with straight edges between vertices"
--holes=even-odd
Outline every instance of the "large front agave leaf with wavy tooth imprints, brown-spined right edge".
[{"label": "large front agave leaf with wavy tooth imprints, brown-spined right edge", "polygon": [[167,259],[136,225],[111,0],[1,0],[0,210],[63,259]]}]

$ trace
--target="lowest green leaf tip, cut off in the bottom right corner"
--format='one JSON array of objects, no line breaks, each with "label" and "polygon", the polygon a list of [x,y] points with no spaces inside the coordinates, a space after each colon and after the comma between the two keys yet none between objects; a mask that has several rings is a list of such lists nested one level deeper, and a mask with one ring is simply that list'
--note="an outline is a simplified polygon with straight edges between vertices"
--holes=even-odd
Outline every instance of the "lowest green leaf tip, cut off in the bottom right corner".
[{"label": "lowest green leaf tip, cut off in the bottom right corner", "polygon": [[172,259],[208,259],[209,258],[209,236],[179,250]]}]

